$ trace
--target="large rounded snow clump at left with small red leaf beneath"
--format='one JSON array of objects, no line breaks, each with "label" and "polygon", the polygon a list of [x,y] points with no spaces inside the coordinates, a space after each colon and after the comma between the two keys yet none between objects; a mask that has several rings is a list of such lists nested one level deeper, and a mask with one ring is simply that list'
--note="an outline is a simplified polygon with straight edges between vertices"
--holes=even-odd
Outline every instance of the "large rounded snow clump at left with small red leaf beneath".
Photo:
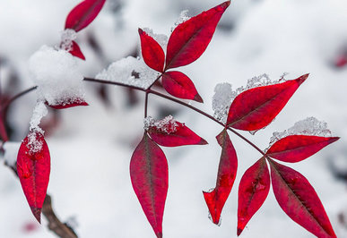
[{"label": "large rounded snow clump at left with small red leaf beneath", "polygon": [[86,105],[83,76],[76,58],[62,49],[41,47],[29,61],[32,81],[38,86],[39,100],[48,106]]}]

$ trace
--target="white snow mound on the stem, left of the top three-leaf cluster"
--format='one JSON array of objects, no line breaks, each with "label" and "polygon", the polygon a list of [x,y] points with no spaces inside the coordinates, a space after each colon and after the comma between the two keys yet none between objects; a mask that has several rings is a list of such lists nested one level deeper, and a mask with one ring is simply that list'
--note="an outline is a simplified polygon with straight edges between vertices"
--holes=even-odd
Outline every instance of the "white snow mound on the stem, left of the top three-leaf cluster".
[{"label": "white snow mound on the stem, left of the top three-leaf cluster", "polygon": [[128,56],[110,64],[108,69],[100,72],[96,75],[96,78],[147,89],[157,79],[158,75],[159,73],[149,68],[142,58]]}]

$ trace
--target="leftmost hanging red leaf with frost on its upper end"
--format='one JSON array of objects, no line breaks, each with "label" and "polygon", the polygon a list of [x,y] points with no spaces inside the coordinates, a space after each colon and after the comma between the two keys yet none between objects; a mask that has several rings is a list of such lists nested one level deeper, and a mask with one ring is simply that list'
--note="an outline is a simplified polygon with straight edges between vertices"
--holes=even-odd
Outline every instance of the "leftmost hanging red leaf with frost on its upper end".
[{"label": "leftmost hanging red leaf with frost on its upper end", "polygon": [[32,214],[40,223],[50,173],[49,150],[42,134],[30,132],[22,141],[17,157],[17,172]]}]

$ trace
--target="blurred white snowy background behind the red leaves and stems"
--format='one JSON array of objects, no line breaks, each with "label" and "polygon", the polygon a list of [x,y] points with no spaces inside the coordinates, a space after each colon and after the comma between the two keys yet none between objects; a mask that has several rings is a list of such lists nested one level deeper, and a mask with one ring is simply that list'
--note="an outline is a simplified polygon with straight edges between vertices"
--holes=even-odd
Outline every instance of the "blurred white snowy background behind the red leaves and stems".
[{"label": "blurred white snowy background behind the red leaves and stems", "polygon": [[[0,0],[3,91],[13,95],[33,86],[28,71],[30,55],[42,45],[58,44],[65,17],[78,3]],[[187,9],[192,16],[216,4],[221,1],[108,0],[98,18],[78,33],[77,42],[87,58],[80,61],[82,74],[95,77],[108,64],[131,55],[139,46],[138,27],[169,34],[181,11]],[[347,172],[347,66],[335,68],[332,62],[347,47],[346,13],[344,0],[235,0],[204,55],[181,69],[204,98],[204,105],[192,104],[210,114],[217,83],[226,81],[235,89],[263,73],[274,80],[283,72],[289,73],[286,79],[310,73],[271,125],[254,136],[242,133],[265,149],[273,132],[282,132],[313,115],[341,137],[306,161],[290,165],[314,186],[338,237],[347,237],[347,224],[343,223],[347,182],[336,179],[333,173]],[[99,42],[103,57],[88,44],[90,34]],[[18,81],[13,80],[13,72]],[[129,106],[125,89],[108,86],[111,106],[105,106],[95,90],[100,86],[91,82],[84,85],[90,106],[59,111],[60,123],[47,137],[52,163],[48,193],[56,214],[74,225],[81,237],[154,237],[129,176],[130,157],[143,133],[143,94],[136,93],[139,102]],[[13,141],[27,135],[36,97],[32,92],[11,106]],[[164,236],[236,237],[239,180],[260,154],[230,134],[238,152],[239,171],[221,214],[221,226],[213,225],[202,191],[215,185],[221,149],[214,137],[221,126],[165,99],[150,97],[149,115],[158,118],[167,111],[209,145],[163,148],[169,160]],[[52,114],[49,110],[48,117]],[[0,165],[0,237],[55,237],[46,225],[45,218],[42,225],[36,223],[18,179]],[[241,237],[314,236],[282,212],[270,191]]]}]

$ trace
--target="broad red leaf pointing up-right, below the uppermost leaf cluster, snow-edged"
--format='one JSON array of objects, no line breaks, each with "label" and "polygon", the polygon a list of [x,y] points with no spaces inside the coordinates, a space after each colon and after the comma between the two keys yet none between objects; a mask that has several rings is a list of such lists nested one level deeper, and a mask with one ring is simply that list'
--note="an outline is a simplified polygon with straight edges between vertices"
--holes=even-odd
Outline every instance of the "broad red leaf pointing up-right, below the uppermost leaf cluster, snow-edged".
[{"label": "broad red leaf pointing up-right, below the uppermost leaf cluster, snow-edged", "polygon": [[244,131],[262,129],[271,123],[287,104],[294,92],[308,78],[248,89],[231,103],[227,125]]}]

